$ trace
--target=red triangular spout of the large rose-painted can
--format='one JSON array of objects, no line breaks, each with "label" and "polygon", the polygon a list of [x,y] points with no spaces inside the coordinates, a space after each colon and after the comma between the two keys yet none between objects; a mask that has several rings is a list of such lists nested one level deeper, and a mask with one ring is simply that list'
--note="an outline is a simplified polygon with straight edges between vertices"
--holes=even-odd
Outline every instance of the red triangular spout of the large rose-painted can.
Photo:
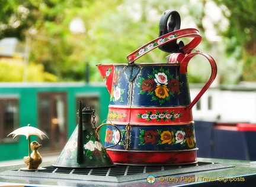
[{"label": "red triangular spout of the large rose-painted can", "polygon": [[103,80],[104,80],[105,86],[107,87],[108,92],[111,94],[114,65],[97,64],[97,67],[101,73],[101,76],[103,77]]}]

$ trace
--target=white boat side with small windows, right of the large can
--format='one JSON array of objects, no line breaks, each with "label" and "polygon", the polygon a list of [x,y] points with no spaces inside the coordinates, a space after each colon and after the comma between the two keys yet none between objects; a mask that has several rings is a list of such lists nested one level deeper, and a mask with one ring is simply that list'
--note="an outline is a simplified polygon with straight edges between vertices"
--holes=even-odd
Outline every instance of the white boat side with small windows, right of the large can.
[{"label": "white boat side with small windows, right of the large can", "polygon": [[[191,88],[191,101],[200,89]],[[212,96],[212,110],[208,97]],[[210,88],[200,99],[201,109],[193,107],[194,120],[256,123],[256,91],[233,91]]]}]

